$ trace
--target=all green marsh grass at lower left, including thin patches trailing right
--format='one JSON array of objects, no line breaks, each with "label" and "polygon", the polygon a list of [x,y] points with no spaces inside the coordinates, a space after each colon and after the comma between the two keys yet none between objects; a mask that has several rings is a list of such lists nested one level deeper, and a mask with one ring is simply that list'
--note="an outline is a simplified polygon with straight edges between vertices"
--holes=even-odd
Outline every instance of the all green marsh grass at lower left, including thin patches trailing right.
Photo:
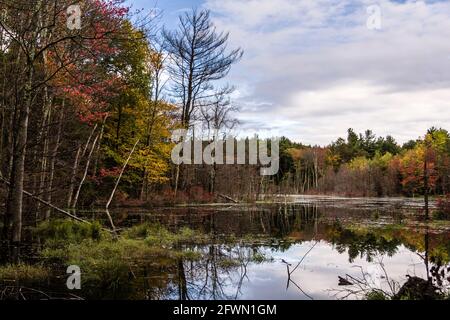
[{"label": "all green marsh grass at lower left, including thin patches trailing right", "polygon": [[[143,288],[167,288],[169,282],[178,281],[180,261],[201,264],[210,254],[206,246],[223,242],[220,237],[189,228],[173,232],[154,223],[122,230],[118,238],[113,238],[96,222],[52,220],[41,223],[33,231],[41,240],[39,264],[4,266],[0,269],[0,280],[27,280],[33,288],[39,288],[39,283],[47,280],[56,282],[59,290],[65,290],[62,280],[66,269],[76,265],[81,269],[82,296],[86,298],[142,298],[147,296]],[[229,251],[220,254],[217,260],[223,269],[237,268],[245,261],[268,261],[256,252],[245,257],[232,254],[236,243],[248,245],[245,239],[232,236],[225,242],[230,246]],[[55,279],[55,275],[63,275],[63,279]]]}]

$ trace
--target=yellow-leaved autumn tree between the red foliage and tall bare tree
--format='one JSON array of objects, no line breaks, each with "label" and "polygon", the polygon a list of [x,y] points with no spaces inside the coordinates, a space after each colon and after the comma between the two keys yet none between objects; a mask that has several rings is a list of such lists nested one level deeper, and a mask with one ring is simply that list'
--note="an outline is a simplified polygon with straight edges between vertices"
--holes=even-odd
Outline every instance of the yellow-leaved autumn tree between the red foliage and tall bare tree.
[{"label": "yellow-leaved autumn tree between the red foliage and tall bare tree", "polygon": [[[134,150],[129,170],[123,177],[126,193],[146,199],[149,184],[167,180],[173,107],[161,100],[163,57],[148,39],[130,24],[124,26],[133,41],[117,42],[118,54],[112,61],[123,86],[111,101],[106,121],[99,178],[106,185],[116,178],[119,168]],[[136,144],[137,143],[137,144]]]}]

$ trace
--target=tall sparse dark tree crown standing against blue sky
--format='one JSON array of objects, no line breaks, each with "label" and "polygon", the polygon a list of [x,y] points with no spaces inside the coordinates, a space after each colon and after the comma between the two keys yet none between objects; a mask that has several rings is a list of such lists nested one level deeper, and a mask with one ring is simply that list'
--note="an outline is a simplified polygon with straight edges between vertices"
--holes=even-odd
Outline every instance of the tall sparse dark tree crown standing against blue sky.
[{"label": "tall sparse dark tree crown standing against blue sky", "polygon": [[163,37],[172,62],[173,94],[181,105],[182,125],[189,128],[199,102],[211,96],[211,83],[227,76],[243,51],[227,50],[229,34],[217,32],[208,10],[181,15],[178,30],[164,29]]}]

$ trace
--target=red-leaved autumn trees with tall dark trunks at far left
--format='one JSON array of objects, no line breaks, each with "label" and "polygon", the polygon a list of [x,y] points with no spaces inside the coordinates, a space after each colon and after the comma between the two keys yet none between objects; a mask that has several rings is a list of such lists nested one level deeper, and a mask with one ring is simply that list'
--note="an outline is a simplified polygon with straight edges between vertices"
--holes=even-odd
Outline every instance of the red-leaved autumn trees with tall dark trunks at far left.
[{"label": "red-leaved autumn trees with tall dark trunks at far left", "polygon": [[[22,240],[25,187],[31,188],[34,197],[52,200],[56,157],[61,148],[68,151],[63,127],[79,121],[100,128],[98,123],[105,119],[107,93],[114,91],[111,88],[117,80],[108,69],[107,58],[115,54],[112,42],[127,39],[121,26],[128,8],[121,3],[76,2],[82,23],[70,28],[72,12],[68,8],[73,2],[0,2],[5,89],[1,130],[2,148],[7,151],[2,156],[2,179],[8,185],[2,238],[10,243]],[[92,132],[86,148],[75,148],[78,155],[95,152],[100,132]],[[86,162],[85,168],[89,168]],[[87,169],[81,171],[86,176]],[[49,214],[46,210],[44,216]]]}]

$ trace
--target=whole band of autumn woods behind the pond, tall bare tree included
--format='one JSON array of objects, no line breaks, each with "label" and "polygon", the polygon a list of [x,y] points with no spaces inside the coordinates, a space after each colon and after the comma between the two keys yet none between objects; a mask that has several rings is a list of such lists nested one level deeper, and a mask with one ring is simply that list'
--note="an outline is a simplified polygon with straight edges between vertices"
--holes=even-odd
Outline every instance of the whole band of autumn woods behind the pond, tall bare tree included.
[{"label": "whole band of autumn woods behind the pond, tall bare tree included", "polygon": [[437,129],[401,147],[370,131],[328,147],[283,138],[273,177],[254,165],[174,165],[174,129],[210,141],[239,124],[224,79],[243,50],[228,38],[205,10],[168,30],[156,11],[121,0],[0,0],[2,239],[20,243],[55,208],[111,201],[417,195],[428,177],[430,193],[448,192],[450,139]]}]

